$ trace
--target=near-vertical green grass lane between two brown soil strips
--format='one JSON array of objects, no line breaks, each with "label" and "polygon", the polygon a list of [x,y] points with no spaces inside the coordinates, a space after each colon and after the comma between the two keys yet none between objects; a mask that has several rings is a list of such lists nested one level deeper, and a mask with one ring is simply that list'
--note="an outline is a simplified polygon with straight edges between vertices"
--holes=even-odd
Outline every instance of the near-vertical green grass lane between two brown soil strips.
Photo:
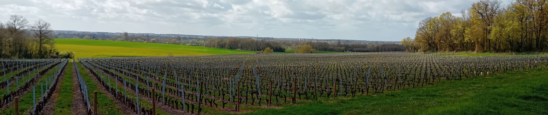
[{"label": "near-vertical green grass lane between two brown soil strips", "polygon": [[72,97],[72,70],[74,66],[72,65],[72,62],[67,64],[65,76],[62,78],[63,82],[59,83],[61,85],[61,90],[59,90],[59,96],[53,114],[71,114],[72,98],[74,98]]}]

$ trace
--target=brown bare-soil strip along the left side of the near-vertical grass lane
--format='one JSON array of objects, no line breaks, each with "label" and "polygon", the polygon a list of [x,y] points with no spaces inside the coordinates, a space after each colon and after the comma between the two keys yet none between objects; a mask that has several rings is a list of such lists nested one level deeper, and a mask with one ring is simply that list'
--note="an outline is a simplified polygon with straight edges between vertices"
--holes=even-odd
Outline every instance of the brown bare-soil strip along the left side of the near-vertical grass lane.
[{"label": "brown bare-soil strip along the left side of the near-vertical grass lane", "polygon": [[[67,63],[68,64],[68,63]],[[59,98],[59,92],[61,91],[61,84],[63,83],[63,78],[65,77],[65,71],[66,66],[63,68],[63,71],[61,71],[61,77],[59,82],[57,82],[57,85],[55,86],[55,91],[52,94],[52,97],[49,99],[48,103],[45,104],[44,109],[42,110],[43,114],[45,115],[51,115],[55,112],[55,105],[57,105],[57,98]]]}]

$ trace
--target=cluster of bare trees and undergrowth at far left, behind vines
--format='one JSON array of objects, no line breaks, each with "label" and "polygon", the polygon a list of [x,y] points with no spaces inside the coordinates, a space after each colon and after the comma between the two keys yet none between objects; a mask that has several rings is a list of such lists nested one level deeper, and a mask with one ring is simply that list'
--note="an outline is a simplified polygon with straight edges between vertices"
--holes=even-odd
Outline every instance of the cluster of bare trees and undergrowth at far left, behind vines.
[{"label": "cluster of bare trees and undergrowth at far left, behind vines", "polygon": [[0,22],[0,58],[71,58],[74,53],[58,52],[50,23],[40,19],[32,25],[25,17],[11,15]]}]

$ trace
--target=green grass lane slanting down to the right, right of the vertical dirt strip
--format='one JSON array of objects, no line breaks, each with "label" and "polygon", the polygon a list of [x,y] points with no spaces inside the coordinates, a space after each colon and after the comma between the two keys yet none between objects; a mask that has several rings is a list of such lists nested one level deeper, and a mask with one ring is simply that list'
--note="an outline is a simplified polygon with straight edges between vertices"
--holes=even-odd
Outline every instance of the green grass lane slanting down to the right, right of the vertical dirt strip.
[{"label": "green grass lane slanting down to the right, right of the vertical dirt strip", "polygon": [[105,94],[103,94],[97,86],[95,86],[95,83],[92,81],[91,76],[89,76],[88,72],[85,71],[85,69],[82,67],[81,63],[77,63],[77,68],[82,75],[82,78],[84,78],[85,84],[88,86],[88,95],[89,95],[89,101],[93,102],[93,92],[97,91],[97,98],[98,98],[98,106],[97,111],[99,114],[122,114],[120,111],[122,108],[116,106],[115,101],[107,97]]}]

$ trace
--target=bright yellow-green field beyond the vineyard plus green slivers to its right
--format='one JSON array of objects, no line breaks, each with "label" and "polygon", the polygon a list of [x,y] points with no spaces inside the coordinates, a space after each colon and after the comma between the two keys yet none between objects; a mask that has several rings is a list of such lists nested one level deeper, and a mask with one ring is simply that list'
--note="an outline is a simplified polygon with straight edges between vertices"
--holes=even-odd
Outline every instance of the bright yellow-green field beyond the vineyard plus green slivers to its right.
[{"label": "bright yellow-green field beyond the vineyard plus green slivers to its right", "polygon": [[[130,41],[55,39],[59,51],[76,52],[76,57],[192,56],[255,53],[256,51],[216,49],[203,46],[136,43]],[[295,51],[275,52],[295,53]],[[314,51],[314,53],[344,53]]]}]

